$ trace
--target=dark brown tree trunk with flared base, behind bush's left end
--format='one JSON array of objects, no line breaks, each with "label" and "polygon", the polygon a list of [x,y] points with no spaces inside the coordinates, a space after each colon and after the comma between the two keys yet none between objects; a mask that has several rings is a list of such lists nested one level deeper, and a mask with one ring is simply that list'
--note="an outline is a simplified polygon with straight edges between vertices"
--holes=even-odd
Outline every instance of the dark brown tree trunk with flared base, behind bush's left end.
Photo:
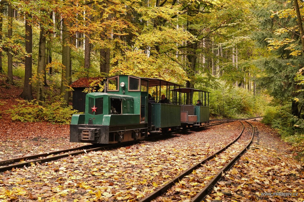
[{"label": "dark brown tree trunk with flared base, behind bush's left end", "polygon": [[28,57],[25,57],[25,75],[24,75],[24,86],[21,93],[21,97],[26,100],[33,99],[32,84],[30,84],[32,78],[32,42],[33,42],[33,30],[30,22],[32,21],[32,16],[28,13],[26,14],[25,20],[25,51]]}]

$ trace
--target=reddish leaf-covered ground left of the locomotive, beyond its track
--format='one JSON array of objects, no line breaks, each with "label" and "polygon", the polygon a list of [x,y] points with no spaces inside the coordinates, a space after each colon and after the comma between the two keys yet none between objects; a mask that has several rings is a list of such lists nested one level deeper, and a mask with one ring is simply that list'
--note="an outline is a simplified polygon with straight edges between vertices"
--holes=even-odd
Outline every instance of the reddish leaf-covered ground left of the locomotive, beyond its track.
[{"label": "reddish leaf-covered ground left of the locomotive, beyond its track", "polygon": [[84,145],[68,142],[68,125],[12,122],[7,110],[18,104],[22,89],[6,84],[5,79],[0,74],[0,161]]}]

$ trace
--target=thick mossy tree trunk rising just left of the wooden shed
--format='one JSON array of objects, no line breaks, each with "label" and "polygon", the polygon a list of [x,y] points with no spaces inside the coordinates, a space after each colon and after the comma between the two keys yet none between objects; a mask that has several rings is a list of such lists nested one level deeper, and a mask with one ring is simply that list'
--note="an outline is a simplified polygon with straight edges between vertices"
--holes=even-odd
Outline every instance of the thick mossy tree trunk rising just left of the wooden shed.
[{"label": "thick mossy tree trunk rising just left of the wooden shed", "polygon": [[62,73],[61,73],[61,94],[63,94],[66,106],[69,104],[69,92],[67,91],[70,85],[71,77],[71,48],[69,46],[70,35],[67,31],[67,22],[62,21]]}]

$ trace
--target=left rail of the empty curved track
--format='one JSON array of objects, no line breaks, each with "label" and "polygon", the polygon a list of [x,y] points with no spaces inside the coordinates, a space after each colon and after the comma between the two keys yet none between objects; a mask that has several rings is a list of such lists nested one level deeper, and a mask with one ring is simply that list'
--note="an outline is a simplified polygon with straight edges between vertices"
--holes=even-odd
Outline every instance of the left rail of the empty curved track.
[{"label": "left rail of the empty curved track", "polygon": [[[242,122],[241,122],[242,123]],[[199,167],[202,167],[202,164],[206,163],[207,161],[211,160],[212,158],[216,157],[216,155],[222,153],[224,150],[226,150],[229,146],[231,146],[233,143],[235,143],[240,136],[243,134],[245,126],[243,125],[243,129],[240,133],[239,136],[237,136],[237,138],[235,138],[232,142],[230,142],[229,144],[227,144],[226,146],[222,147],[220,150],[216,151],[215,153],[211,154],[209,157],[206,157],[204,160],[202,160],[201,162],[197,163],[196,165],[192,166],[191,168],[189,168],[188,170],[184,171],[183,173],[181,173],[180,175],[178,175],[177,177],[175,177],[174,179],[168,181],[166,184],[164,184],[162,187],[158,188],[157,190],[155,190],[154,192],[148,194],[146,197],[142,198],[141,200],[139,200],[139,202],[146,202],[146,201],[151,201],[154,200],[155,198],[157,198],[158,196],[161,196],[162,194],[164,194],[170,187],[172,187],[175,183],[178,183],[178,181],[180,181],[183,177],[185,177],[186,175],[189,175],[190,173],[192,173],[193,170],[198,169]]]}]

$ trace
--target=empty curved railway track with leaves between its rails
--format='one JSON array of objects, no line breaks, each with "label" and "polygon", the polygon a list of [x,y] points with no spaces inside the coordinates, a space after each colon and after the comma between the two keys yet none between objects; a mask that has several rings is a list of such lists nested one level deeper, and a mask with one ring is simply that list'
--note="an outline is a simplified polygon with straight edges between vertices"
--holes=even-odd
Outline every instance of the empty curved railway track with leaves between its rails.
[{"label": "empty curved railway track with leaves between its rails", "polygon": [[[221,179],[222,174],[233,166],[252,143],[255,134],[254,126],[247,121],[245,122],[251,126],[252,133],[249,134],[247,132],[244,134],[245,126],[241,122],[243,130],[235,140],[168,181],[162,187],[142,198],[140,202],[159,200],[201,201],[212,190],[217,181]],[[240,149],[240,147],[242,148]],[[233,153],[233,155],[230,155],[227,159],[224,153]],[[193,189],[194,191],[190,191]]]}]

